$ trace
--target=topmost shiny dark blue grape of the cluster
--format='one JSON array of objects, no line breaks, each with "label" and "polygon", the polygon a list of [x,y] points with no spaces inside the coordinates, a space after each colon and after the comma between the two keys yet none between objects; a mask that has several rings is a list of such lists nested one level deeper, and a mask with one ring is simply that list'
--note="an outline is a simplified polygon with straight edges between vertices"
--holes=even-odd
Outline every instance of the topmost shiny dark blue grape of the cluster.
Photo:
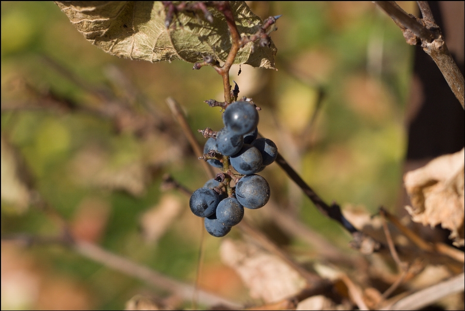
[{"label": "topmost shiny dark blue grape of the cluster", "polygon": [[226,108],[223,123],[236,135],[244,135],[257,127],[258,112],[247,101],[235,101]]}]

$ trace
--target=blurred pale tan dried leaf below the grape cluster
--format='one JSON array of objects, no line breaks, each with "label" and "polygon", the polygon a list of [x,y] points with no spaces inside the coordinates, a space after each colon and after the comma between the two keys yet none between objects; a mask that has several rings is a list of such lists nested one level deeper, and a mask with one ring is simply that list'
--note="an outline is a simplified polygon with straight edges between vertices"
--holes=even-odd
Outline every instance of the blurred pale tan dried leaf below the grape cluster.
[{"label": "blurred pale tan dried leaf below the grape cluster", "polygon": [[239,274],[253,298],[273,303],[305,287],[305,279],[294,269],[256,246],[225,239],[220,253],[221,260]]}]

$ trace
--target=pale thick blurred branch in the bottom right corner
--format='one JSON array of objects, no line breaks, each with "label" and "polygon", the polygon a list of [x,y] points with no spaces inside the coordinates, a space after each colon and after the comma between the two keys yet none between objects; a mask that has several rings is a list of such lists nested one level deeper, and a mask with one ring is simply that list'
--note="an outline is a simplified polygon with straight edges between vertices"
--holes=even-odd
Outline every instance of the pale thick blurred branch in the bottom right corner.
[{"label": "pale thick blurred branch in the bottom right corner", "polygon": [[409,295],[390,308],[382,310],[419,310],[435,301],[451,294],[463,292],[465,289],[465,274],[462,273],[453,278],[425,288],[415,294]]}]

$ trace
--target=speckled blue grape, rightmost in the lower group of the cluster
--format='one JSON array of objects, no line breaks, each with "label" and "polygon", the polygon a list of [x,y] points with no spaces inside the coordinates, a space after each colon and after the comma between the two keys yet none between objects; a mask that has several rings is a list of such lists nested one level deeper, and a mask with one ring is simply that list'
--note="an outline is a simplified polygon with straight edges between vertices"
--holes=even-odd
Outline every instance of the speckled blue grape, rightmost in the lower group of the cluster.
[{"label": "speckled blue grape, rightmost in the lower group of the cluster", "polygon": [[270,186],[260,175],[244,176],[236,184],[236,198],[244,207],[259,209],[270,199]]}]

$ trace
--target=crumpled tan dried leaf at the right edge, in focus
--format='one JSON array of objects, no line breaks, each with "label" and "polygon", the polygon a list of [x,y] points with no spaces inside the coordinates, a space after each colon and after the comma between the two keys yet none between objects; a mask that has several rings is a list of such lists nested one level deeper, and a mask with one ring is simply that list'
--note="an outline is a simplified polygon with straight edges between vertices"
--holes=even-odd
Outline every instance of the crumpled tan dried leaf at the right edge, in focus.
[{"label": "crumpled tan dried leaf at the right edge, in focus", "polygon": [[441,224],[451,231],[449,238],[464,246],[464,166],[465,148],[440,156],[425,166],[405,174],[403,180],[412,206],[406,206],[413,221]]}]

